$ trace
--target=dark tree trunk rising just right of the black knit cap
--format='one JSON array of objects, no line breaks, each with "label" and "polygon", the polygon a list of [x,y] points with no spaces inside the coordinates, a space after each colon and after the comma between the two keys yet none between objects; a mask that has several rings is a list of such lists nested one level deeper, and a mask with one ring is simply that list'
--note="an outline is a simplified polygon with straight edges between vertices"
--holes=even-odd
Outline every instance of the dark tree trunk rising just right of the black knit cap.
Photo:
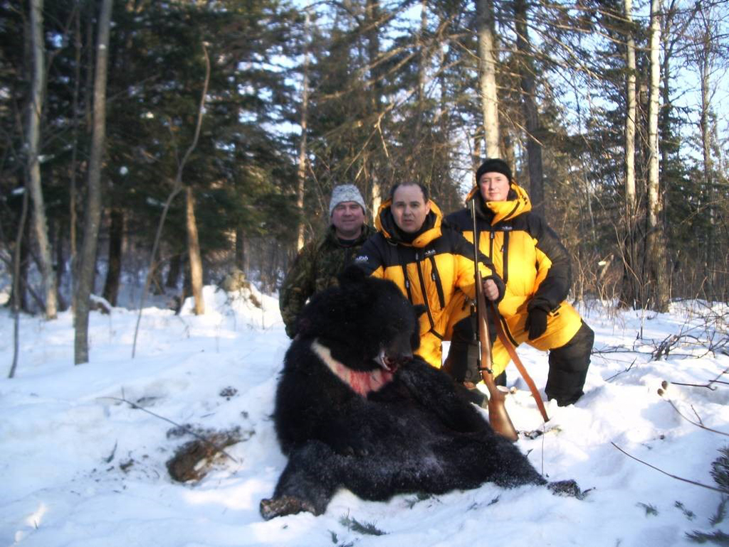
[{"label": "dark tree trunk rising just right of the black knit cap", "polygon": [[521,75],[521,108],[526,125],[526,157],[529,165],[529,198],[531,206],[539,214],[545,214],[544,171],[542,167],[541,128],[539,112],[534,96],[534,66],[531,63],[531,42],[527,26],[525,0],[514,1],[516,26],[516,49],[520,54],[519,72]]}]

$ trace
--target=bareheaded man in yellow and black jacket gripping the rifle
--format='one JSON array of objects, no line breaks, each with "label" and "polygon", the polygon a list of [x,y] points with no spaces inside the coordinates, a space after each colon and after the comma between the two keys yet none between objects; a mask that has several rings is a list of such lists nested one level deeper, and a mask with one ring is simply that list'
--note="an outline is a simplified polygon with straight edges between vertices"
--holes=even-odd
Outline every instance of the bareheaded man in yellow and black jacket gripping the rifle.
[{"label": "bareheaded man in yellow and black jacket gripping the rifle", "polygon": [[[424,306],[416,353],[436,368],[441,365],[441,341],[450,339],[455,322],[469,315],[467,297],[475,296],[473,247],[442,220],[426,187],[396,185],[378,211],[378,233],[354,259],[367,274],[397,284],[410,303]],[[494,265],[482,256],[479,267],[484,295],[499,300],[504,283],[494,274]]]}]

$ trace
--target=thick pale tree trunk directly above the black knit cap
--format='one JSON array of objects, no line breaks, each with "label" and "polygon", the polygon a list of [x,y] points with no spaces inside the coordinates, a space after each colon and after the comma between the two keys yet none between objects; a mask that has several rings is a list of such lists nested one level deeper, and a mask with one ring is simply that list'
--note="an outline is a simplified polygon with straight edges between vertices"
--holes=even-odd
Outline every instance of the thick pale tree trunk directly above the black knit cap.
[{"label": "thick pale tree trunk directly above the black knit cap", "polygon": [[496,49],[494,47],[494,4],[476,0],[478,32],[478,87],[483,112],[486,156],[499,158],[499,97],[496,94]]}]

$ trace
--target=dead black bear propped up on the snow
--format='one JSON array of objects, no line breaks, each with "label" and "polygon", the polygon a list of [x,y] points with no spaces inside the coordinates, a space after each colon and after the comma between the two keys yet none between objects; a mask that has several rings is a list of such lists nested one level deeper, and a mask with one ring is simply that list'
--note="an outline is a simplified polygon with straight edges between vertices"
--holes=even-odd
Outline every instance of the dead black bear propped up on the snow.
[{"label": "dead black bear propped up on the snow", "polygon": [[[273,413],[289,462],[261,515],[323,513],[341,487],[366,500],[491,481],[546,484],[445,373],[412,357],[416,311],[356,267],[303,310]],[[576,485],[574,485],[576,488]]]}]

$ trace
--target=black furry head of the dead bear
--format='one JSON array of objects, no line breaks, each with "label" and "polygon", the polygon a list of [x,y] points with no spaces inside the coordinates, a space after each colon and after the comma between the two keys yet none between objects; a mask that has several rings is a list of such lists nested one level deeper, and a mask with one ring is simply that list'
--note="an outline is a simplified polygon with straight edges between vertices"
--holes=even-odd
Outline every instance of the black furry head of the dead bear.
[{"label": "black furry head of the dead bear", "polygon": [[314,295],[298,319],[299,339],[316,338],[355,371],[394,371],[418,349],[418,316],[397,285],[350,265],[339,285]]}]

